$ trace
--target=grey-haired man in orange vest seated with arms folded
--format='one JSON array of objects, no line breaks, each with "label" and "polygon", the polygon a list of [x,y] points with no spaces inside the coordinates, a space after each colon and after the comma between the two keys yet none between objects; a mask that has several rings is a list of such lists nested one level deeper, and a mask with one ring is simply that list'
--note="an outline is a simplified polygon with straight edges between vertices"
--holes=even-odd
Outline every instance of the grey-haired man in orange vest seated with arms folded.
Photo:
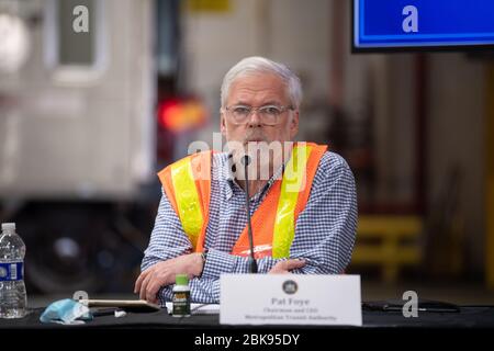
[{"label": "grey-haired man in orange vest seated with arms folded", "polygon": [[353,176],[327,146],[293,141],[301,100],[299,78],[267,58],[245,58],[226,73],[220,127],[228,151],[193,154],[158,173],[141,298],[165,304],[176,274],[188,274],[192,302],[218,303],[221,274],[249,272],[247,189],[259,273],[344,272],[357,226]]}]

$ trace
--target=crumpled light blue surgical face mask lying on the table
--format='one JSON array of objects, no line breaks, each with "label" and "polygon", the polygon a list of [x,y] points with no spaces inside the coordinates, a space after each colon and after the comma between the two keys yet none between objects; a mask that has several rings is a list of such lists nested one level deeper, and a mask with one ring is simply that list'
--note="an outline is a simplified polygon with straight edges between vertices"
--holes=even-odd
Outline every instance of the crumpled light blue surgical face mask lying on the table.
[{"label": "crumpled light blue surgical face mask lying on the table", "polygon": [[50,304],[40,317],[42,322],[75,324],[76,320],[91,320],[89,307],[71,298],[59,299]]}]

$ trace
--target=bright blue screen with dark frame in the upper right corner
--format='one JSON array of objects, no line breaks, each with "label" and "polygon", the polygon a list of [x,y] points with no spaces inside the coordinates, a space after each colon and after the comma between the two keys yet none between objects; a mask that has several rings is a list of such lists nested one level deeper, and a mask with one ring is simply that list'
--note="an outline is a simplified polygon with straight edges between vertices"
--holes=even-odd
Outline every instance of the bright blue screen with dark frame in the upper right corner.
[{"label": "bright blue screen with dark frame in the upper right corner", "polygon": [[366,47],[494,44],[494,0],[355,0],[353,44]]}]

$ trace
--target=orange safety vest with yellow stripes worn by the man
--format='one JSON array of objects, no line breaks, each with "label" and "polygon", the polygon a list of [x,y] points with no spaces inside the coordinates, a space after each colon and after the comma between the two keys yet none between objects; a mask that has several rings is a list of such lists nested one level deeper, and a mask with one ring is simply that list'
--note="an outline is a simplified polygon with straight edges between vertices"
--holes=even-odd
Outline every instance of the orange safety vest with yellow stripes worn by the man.
[{"label": "orange safety vest with yellow stripes worn by the man", "polygon": [[[283,178],[276,180],[251,217],[256,258],[289,258],[299,214],[305,208],[312,182],[326,145],[295,143]],[[188,156],[162,169],[159,180],[189,237],[194,252],[204,250],[211,199],[213,151]],[[232,254],[248,256],[247,226]]]}]

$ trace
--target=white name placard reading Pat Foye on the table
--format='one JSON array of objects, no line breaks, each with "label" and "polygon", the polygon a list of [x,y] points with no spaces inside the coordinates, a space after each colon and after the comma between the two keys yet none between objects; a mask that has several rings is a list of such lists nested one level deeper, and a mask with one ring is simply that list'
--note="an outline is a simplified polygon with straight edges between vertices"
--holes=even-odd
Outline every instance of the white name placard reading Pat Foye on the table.
[{"label": "white name placard reading Pat Foye on the table", "polygon": [[360,275],[222,274],[220,324],[361,326]]}]

